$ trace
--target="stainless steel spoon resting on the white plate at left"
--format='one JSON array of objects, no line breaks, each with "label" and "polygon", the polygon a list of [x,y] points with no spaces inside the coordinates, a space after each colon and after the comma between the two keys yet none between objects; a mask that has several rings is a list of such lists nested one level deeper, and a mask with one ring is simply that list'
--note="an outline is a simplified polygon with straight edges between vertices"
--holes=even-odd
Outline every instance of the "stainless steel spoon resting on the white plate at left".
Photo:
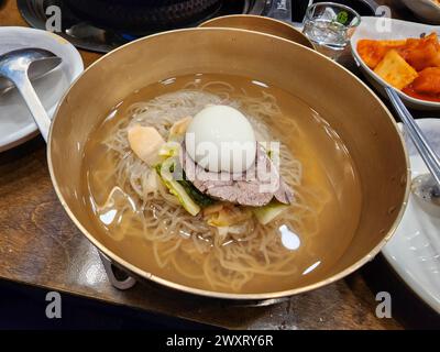
[{"label": "stainless steel spoon resting on the white plate at left", "polygon": [[41,48],[21,48],[0,56],[0,76],[10,80],[23,96],[46,142],[51,119],[32,87],[30,76],[43,76],[61,63],[61,57]]}]

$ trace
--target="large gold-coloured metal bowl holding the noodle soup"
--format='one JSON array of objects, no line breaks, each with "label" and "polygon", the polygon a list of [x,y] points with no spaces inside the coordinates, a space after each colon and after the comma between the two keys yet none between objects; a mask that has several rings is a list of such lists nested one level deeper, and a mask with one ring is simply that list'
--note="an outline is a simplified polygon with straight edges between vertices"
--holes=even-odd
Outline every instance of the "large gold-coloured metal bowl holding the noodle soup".
[{"label": "large gold-coloured metal bowl holding the noodle soup", "polygon": [[[329,272],[312,283],[266,294],[227,294],[183,286],[133,265],[130,255],[110,250],[94,228],[84,202],[87,195],[81,194],[80,187],[82,153],[90,132],[133,91],[169,77],[196,73],[253,77],[283,88],[322,113],[344,141],[360,175],[362,213],[349,249]],[[349,275],[373,258],[389,240],[409,191],[408,158],[396,123],[360,79],[302,45],[237,29],[161,33],[103,56],[64,97],[52,124],[47,154],[52,180],[64,208],[102,253],[138,277],[218,298],[276,299]]]}]

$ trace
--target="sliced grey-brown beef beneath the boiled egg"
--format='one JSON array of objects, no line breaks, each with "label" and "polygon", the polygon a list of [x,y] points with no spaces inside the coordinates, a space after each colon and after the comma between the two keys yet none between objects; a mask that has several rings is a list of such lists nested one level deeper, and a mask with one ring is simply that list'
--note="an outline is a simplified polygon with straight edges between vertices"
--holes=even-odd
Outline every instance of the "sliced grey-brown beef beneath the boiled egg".
[{"label": "sliced grey-brown beef beneath the boiled egg", "polygon": [[211,173],[197,165],[184,150],[183,165],[187,179],[201,193],[223,201],[261,207],[273,198],[293,201],[293,191],[283,182],[263,146],[256,148],[255,164],[245,173]]}]

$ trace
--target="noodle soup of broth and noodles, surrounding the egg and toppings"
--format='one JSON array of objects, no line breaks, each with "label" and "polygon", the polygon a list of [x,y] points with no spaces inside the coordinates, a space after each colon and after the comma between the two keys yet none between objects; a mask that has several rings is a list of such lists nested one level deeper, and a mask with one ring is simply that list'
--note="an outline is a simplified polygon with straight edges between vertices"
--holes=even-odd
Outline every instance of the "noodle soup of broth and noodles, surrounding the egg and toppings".
[{"label": "noodle soup of broth and noodles, surrounding the egg and toppings", "polygon": [[[154,127],[166,140],[173,123],[206,105],[232,106],[257,141],[280,142],[280,175],[294,200],[270,223],[250,207],[227,231],[204,210],[191,216],[131,151],[131,125]],[[98,239],[131,264],[190,287],[257,294],[307,285],[334,265],[359,222],[358,174],[324,117],[249,78],[198,74],[145,87],[103,117],[85,155],[82,191]]]}]

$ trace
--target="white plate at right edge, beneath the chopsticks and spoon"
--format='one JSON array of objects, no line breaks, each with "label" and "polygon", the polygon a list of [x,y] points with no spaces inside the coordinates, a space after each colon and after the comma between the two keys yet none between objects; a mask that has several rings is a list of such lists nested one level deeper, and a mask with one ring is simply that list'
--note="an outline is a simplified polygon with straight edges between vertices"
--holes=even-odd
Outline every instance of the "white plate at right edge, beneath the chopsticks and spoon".
[{"label": "white plate at right edge, beneath the chopsticks and spoon", "polygon": [[[440,119],[417,122],[440,152]],[[428,173],[413,143],[407,136],[405,141],[413,178]],[[404,218],[382,253],[407,285],[440,314],[440,218],[425,212],[410,195]]]}]

